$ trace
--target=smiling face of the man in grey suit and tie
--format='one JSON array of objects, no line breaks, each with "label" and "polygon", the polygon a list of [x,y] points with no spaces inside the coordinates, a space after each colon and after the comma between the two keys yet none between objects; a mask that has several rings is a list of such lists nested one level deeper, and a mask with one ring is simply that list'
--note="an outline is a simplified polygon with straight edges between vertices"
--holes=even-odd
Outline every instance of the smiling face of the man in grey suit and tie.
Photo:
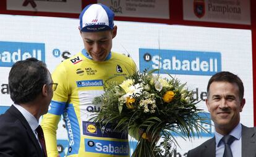
[{"label": "smiling face of the man in grey suit and tie", "polygon": [[239,88],[236,83],[212,82],[206,100],[215,130],[227,135],[240,121],[240,112],[245,99],[239,98]]}]

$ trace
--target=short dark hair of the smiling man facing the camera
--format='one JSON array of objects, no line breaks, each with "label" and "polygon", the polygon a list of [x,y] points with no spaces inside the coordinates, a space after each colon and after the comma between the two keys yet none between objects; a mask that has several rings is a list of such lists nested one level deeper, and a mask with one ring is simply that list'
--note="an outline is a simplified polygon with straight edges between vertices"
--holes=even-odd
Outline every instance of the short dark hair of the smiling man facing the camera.
[{"label": "short dark hair of the smiling man facing the camera", "polygon": [[244,84],[242,83],[242,80],[235,74],[231,73],[231,72],[218,72],[216,74],[214,74],[207,85],[207,93],[209,96],[209,88],[211,83],[213,82],[229,82],[229,83],[236,83],[236,85],[239,88],[239,97],[240,100],[242,100],[242,98],[244,98]]}]

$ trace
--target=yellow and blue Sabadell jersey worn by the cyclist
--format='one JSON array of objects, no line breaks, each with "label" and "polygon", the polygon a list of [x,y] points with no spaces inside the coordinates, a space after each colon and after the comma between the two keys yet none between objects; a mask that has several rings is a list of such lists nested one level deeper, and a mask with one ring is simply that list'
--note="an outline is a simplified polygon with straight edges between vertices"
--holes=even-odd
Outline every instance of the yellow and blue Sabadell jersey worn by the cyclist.
[{"label": "yellow and blue Sabadell jersey worn by the cyclist", "polygon": [[105,81],[112,77],[111,81],[121,83],[136,70],[134,61],[123,54],[109,53],[106,61],[98,62],[85,49],[59,64],[52,74],[58,88],[41,122],[48,157],[58,156],[56,130],[61,115],[69,138],[67,156],[129,156],[127,132],[111,127],[101,132],[90,119],[100,111],[100,104],[92,100],[103,94]]}]

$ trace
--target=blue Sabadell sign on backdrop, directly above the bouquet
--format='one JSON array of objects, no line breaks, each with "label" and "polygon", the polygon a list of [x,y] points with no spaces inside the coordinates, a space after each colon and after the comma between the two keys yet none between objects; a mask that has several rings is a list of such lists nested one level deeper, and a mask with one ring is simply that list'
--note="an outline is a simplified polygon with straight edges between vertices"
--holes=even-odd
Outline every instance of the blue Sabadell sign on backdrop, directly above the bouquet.
[{"label": "blue Sabadell sign on backdrop, directly above the bouquet", "polygon": [[139,49],[140,71],[160,69],[161,74],[213,75],[221,71],[221,53]]}]

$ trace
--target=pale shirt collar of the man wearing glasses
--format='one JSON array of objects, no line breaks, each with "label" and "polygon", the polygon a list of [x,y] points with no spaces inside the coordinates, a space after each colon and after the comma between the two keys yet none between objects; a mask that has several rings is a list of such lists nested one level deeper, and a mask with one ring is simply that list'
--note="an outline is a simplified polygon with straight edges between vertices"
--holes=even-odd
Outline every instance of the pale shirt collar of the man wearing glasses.
[{"label": "pale shirt collar of the man wearing glasses", "polygon": [[38,121],[36,120],[35,116],[33,116],[30,112],[28,112],[25,108],[20,106],[19,104],[14,104],[15,108],[17,108],[22,115],[27,120],[28,124],[30,125],[33,132],[35,132],[35,129],[38,127]]}]

